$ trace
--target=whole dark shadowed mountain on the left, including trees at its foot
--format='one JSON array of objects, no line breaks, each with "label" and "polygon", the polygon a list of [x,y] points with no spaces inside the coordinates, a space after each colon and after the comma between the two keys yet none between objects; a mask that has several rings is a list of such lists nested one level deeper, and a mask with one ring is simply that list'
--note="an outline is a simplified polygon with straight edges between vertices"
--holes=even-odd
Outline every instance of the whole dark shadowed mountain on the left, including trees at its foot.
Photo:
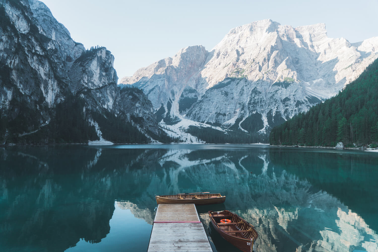
[{"label": "whole dark shadowed mountain on the left, including trees at its foot", "polygon": [[110,51],[74,42],[42,2],[0,3],[0,144],[166,136],[143,92],[117,87]]}]

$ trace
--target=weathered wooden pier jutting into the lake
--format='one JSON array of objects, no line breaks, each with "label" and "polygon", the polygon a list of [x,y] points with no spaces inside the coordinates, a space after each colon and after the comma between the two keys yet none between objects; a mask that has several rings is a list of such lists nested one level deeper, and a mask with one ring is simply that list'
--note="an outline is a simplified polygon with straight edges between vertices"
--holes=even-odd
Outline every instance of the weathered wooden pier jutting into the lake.
[{"label": "weathered wooden pier jutting into the lake", "polygon": [[212,252],[194,204],[159,204],[147,252]]}]

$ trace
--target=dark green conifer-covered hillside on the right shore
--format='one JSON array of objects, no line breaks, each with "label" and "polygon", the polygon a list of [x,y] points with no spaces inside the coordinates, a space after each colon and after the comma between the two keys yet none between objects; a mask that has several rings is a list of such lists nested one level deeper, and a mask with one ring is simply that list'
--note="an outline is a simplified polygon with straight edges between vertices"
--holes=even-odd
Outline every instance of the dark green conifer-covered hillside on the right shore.
[{"label": "dark green conifer-covered hillside on the right shore", "polygon": [[269,141],[273,145],[376,145],[378,60],[335,97],[274,127]]}]

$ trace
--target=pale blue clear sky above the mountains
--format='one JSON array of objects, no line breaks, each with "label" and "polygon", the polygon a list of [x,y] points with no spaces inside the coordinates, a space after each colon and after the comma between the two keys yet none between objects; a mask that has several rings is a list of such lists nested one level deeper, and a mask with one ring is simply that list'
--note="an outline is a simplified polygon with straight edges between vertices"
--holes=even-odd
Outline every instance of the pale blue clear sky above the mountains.
[{"label": "pale blue clear sky above the mountains", "polygon": [[378,36],[377,0],[42,2],[76,42],[110,50],[119,78],[186,46],[210,51],[230,29],[262,19],[294,27],[325,23],[328,37],[351,43]]}]

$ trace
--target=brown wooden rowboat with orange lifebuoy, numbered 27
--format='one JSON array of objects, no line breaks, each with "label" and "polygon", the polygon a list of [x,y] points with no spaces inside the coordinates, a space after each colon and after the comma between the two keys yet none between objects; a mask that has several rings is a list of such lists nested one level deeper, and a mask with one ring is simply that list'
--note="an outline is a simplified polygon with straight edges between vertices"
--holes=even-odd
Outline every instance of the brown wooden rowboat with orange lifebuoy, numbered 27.
[{"label": "brown wooden rowboat with orange lifebuoy, numbered 27", "polygon": [[229,243],[244,252],[255,251],[257,231],[254,226],[229,211],[209,211],[209,218],[215,230]]}]

